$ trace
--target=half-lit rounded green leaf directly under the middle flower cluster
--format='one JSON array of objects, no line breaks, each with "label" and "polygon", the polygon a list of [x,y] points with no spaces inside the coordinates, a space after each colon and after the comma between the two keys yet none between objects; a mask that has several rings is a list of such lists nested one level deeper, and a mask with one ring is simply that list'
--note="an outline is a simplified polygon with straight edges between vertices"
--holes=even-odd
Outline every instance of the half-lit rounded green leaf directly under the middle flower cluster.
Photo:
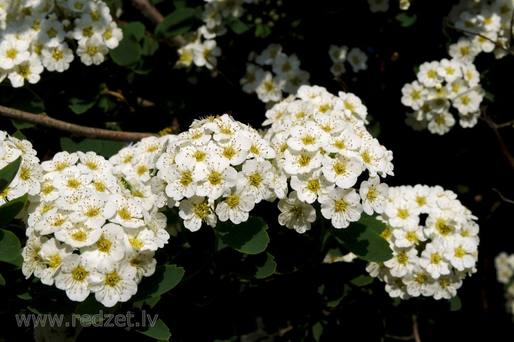
[{"label": "half-lit rounded green leaf directly under the middle flower cluster", "polygon": [[234,225],[231,222],[220,224],[219,238],[228,246],[247,254],[258,254],[268,246],[268,225],[260,217],[250,216],[246,222]]}]

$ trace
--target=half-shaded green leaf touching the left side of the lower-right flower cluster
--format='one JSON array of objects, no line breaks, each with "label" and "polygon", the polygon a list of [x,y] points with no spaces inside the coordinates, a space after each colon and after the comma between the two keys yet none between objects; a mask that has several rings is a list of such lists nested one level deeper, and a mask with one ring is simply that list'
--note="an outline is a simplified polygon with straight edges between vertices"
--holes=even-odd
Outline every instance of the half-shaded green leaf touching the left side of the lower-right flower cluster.
[{"label": "half-shaded green leaf touching the left side of the lower-right flower cluster", "polygon": [[347,228],[333,228],[330,232],[341,245],[361,259],[383,263],[393,257],[387,240],[373,228],[353,222]]}]

